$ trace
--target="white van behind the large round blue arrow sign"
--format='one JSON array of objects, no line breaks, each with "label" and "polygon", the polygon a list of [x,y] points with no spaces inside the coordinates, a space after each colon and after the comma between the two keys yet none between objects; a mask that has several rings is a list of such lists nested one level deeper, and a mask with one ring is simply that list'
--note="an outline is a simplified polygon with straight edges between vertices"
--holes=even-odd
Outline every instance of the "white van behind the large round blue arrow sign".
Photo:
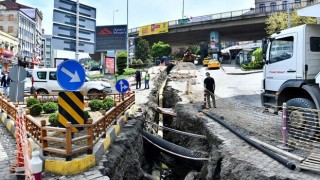
[{"label": "white van behind the large round blue arrow sign", "polygon": [[[57,81],[56,68],[33,69],[33,86],[38,94],[58,94],[63,90]],[[111,93],[109,83],[103,81],[92,81],[86,77],[83,86],[79,89],[84,94]]]}]

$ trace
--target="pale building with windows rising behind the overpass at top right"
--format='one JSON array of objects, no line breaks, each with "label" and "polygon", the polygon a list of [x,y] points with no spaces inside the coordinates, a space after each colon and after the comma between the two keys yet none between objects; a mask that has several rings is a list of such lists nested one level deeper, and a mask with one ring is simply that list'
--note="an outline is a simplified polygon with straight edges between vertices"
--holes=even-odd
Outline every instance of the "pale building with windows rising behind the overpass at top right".
[{"label": "pale building with windows rising behind the overpass at top right", "polygon": [[301,6],[310,5],[319,0],[255,0],[256,11],[270,12],[296,9]]}]

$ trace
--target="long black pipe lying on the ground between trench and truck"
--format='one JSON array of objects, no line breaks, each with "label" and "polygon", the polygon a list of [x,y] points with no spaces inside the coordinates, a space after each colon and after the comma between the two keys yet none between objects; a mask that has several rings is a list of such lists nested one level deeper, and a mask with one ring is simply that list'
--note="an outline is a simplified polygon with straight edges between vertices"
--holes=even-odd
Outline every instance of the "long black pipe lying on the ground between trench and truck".
[{"label": "long black pipe lying on the ground between trench and truck", "polygon": [[235,129],[233,129],[230,125],[226,124],[225,122],[213,117],[212,115],[203,112],[201,109],[198,109],[199,112],[202,112],[203,114],[205,114],[206,116],[210,117],[211,119],[215,120],[216,122],[218,122],[219,124],[221,124],[222,126],[224,126],[225,128],[227,128],[228,130],[230,130],[232,133],[234,133],[235,135],[237,135],[239,138],[241,138],[242,140],[244,140],[245,142],[247,142],[248,144],[250,144],[251,146],[255,147],[256,149],[258,149],[259,151],[263,152],[264,154],[266,154],[267,156],[269,156],[270,158],[278,161],[280,164],[286,166],[287,168],[294,170],[296,168],[296,165],[280,156],[278,156],[277,154],[269,151],[268,149],[266,149],[265,147],[259,145],[258,143],[252,141],[251,139],[248,139],[247,137],[245,137],[244,135],[240,134],[239,132],[237,132]]}]

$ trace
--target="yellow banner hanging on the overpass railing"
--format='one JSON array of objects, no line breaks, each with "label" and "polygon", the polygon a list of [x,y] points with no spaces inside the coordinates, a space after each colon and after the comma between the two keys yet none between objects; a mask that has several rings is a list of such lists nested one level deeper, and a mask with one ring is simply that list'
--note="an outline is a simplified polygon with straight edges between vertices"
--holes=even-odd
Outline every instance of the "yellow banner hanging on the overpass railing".
[{"label": "yellow banner hanging on the overpass railing", "polygon": [[153,34],[167,33],[169,31],[169,23],[162,22],[139,27],[139,36],[148,36]]}]

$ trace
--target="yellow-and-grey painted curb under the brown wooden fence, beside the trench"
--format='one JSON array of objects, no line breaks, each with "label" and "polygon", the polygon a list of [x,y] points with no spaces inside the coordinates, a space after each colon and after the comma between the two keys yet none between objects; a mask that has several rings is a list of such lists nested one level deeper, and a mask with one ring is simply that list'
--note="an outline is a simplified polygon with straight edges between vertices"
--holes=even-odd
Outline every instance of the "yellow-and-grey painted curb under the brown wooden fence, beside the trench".
[{"label": "yellow-and-grey painted curb under the brown wooden fence, beside the trench", "polygon": [[110,148],[112,142],[120,133],[123,125],[131,118],[132,114],[139,111],[140,107],[132,105],[116,120],[116,124],[106,132],[106,137],[100,139],[93,147],[93,153],[82,158],[75,158],[71,161],[46,159],[45,171],[60,175],[75,175],[91,167],[94,167],[102,159],[105,152]]}]

